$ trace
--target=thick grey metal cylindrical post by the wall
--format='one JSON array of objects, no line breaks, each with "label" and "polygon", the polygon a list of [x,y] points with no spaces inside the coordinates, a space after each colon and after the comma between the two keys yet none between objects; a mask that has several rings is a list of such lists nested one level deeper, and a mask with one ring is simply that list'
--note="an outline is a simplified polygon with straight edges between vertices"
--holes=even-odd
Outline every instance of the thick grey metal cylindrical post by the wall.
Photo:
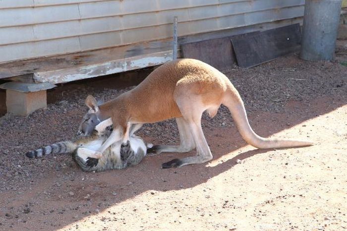
[{"label": "thick grey metal cylindrical post by the wall", "polygon": [[305,0],[300,58],[335,59],[341,3],[342,0]]}]

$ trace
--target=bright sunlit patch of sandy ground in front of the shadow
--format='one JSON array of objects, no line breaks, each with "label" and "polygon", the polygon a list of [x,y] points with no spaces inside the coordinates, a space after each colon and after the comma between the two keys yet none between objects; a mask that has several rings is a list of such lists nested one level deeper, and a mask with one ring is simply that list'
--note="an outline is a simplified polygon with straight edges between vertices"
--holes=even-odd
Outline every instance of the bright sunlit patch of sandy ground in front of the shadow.
[{"label": "bright sunlit patch of sandy ground in front of the shadow", "polygon": [[347,229],[347,106],[271,137],[315,145],[265,152],[241,147],[208,163],[232,167],[206,182],[145,191],[61,230]]}]

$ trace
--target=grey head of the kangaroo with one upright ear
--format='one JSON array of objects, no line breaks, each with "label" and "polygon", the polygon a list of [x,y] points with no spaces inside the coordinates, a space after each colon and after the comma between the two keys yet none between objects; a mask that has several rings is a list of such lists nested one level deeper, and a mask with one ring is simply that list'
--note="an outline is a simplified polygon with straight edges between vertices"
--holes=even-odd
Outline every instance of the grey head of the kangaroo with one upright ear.
[{"label": "grey head of the kangaroo with one upright ear", "polygon": [[82,136],[91,135],[95,129],[95,126],[102,121],[100,119],[100,110],[96,99],[93,96],[89,95],[86,98],[85,104],[88,106],[89,110],[83,116],[77,133],[78,135]]}]

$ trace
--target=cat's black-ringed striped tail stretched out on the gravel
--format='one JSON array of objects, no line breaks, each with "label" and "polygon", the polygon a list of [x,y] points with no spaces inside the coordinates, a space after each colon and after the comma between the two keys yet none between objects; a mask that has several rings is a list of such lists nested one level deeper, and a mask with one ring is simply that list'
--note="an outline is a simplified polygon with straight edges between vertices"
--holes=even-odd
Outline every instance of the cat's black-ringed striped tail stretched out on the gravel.
[{"label": "cat's black-ringed striped tail stretched out on the gravel", "polygon": [[39,148],[35,151],[25,153],[28,158],[40,158],[51,153],[72,153],[77,148],[75,143],[70,141],[58,142],[49,146]]}]

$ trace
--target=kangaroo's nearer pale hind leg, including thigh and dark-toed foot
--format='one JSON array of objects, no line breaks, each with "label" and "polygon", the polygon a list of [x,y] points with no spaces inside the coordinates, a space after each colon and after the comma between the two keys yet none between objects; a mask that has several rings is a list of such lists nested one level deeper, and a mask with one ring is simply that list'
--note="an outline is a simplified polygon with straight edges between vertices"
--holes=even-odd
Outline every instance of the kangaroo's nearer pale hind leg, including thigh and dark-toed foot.
[{"label": "kangaroo's nearer pale hind leg, including thigh and dark-toed foot", "polygon": [[[176,99],[177,105],[186,121],[194,144],[196,147],[196,156],[183,159],[174,159],[162,165],[162,168],[182,167],[191,164],[201,164],[212,159],[212,153],[207,144],[205,135],[201,127],[201,116],[206,110],[199,95],[189,96],[189,100],[184,95]],[[191,102],[194,102],[192,104]]]}]

